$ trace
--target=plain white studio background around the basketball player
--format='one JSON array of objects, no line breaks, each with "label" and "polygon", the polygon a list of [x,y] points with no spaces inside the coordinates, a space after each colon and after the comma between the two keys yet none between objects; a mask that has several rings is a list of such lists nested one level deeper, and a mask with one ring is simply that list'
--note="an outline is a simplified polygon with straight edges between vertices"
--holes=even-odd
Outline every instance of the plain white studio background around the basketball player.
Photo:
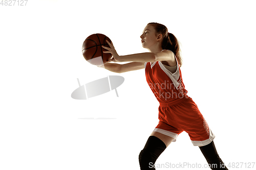
[{"label": "plain white studio background around the basketball player", "polygon": [[[184,84],[216,135],[222,160],[255,162],[253,5],[81,0],[0,5],[0,168],[140,169],[138,155],[158,123],[159,106],[144,69],[117,74],[98,68],[84,60],[81,47],[89,35],[101,33],[119,55],[147,52],[140,35],[148,22],[164,24],[181,42]],[[110,75],[125,79],[119,97],[113,90],[89,100],[71,98],[77,78],[83,85]],[[165,162],[206,163],[185,132],[156,163]]]}]

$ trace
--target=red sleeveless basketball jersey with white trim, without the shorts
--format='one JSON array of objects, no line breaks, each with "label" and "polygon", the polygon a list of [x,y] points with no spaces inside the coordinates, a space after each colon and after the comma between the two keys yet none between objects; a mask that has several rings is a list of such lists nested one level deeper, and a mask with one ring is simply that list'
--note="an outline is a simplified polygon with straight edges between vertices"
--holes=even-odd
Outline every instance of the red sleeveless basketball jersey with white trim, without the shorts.
[{"label": "red sleeveless basketball jersey with white trim, without the shorts", "polygon": [[160,103],[172,102],[184,98],[187,94],[176,56],[175,59],[177,69],[174,73],[170,72],[161,61],[145,62],[146,81]]}]

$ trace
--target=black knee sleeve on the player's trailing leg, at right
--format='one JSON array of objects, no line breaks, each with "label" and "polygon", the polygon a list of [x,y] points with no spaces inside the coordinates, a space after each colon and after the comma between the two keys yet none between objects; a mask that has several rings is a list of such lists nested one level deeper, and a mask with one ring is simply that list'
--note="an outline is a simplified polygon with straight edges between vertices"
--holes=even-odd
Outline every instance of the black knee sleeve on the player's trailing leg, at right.
[{"label": "black knee sleeve on the player's trailing leg, at right", "polygon": [[228,170],[225,164],[222,162],[219,154],[217,153],[214,141],[199,148],[212,170],[218,170],[218,169]]}]

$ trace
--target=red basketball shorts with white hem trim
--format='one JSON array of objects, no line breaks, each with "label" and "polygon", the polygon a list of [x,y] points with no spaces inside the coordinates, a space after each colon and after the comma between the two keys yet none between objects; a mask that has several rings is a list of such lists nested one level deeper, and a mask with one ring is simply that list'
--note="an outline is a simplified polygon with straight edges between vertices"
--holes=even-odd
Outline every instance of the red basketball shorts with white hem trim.
[{"label": "red basketball shorts with white hem trim", "polygon": [[173,137],[176,141],[177,136],[185,131],[195,146],[204,146],[214,140],[215,135],[190,97],[160,103],[158,110],[159,124],[153,132]]}]

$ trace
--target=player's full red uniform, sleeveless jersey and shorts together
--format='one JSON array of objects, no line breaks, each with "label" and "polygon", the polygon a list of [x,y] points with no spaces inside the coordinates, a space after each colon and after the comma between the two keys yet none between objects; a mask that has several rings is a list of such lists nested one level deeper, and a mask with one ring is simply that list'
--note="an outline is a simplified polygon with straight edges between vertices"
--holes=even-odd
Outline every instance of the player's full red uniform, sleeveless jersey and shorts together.
[{"label": "player's full red uniform, sleeveless jersey and shorts together", "polygon": [[175,56],[177,68],[170,72],[161,61],[145,63],[146,81],[160,103],[159,123],[153,132],[174,138],[185,131],[195,146],[204,146],[214,140],[206,120],[195,102],[187,96],[181,70]]}]

